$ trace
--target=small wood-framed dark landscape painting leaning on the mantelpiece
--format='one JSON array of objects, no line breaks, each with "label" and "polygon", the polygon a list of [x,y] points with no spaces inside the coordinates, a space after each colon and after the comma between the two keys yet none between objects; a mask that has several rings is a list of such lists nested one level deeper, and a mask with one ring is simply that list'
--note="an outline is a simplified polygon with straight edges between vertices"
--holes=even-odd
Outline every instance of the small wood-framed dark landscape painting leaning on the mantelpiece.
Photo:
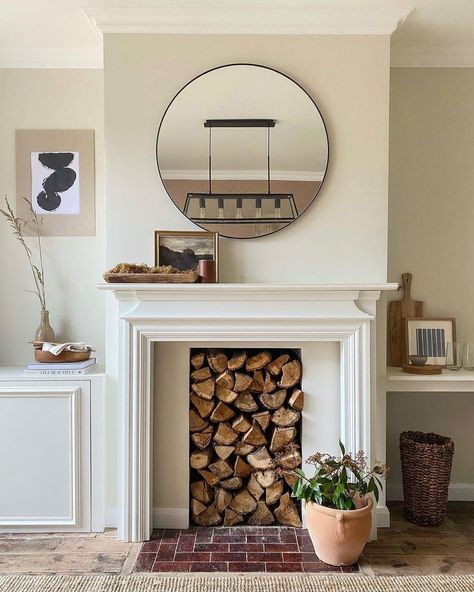
[{"label": "small wood-framed dark landscape painting leaning on the mantelpiece", "polygon": [[155,265],[172,265],[183,271],[195,269],[199,260],[216,263],[219,281],[219,233],[194,230],[155,230]]}]

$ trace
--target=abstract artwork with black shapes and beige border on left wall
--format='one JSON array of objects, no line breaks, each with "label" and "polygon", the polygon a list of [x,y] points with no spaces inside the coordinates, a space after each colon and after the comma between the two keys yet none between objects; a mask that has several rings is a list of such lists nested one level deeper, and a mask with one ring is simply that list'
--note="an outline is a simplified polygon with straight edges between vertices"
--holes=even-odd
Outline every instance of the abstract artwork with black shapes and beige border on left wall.
[{"label": "abstract artwork with black shapes and beige border on left wall", "polygon": [[17,130],[16,187],[18,216],[26,198],[44,236],[94,235],[94,130]]}]

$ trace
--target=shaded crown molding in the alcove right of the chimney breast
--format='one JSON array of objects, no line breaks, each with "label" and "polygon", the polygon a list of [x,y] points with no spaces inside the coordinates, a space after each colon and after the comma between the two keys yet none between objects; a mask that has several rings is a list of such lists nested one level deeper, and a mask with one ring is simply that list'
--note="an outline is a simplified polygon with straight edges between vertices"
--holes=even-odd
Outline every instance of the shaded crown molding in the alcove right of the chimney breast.
[{"label": "shaded crown molding in the alcove right of the chimney breast", "polygon": [[392,47],[392,68],[474,68],[471,47]]}]

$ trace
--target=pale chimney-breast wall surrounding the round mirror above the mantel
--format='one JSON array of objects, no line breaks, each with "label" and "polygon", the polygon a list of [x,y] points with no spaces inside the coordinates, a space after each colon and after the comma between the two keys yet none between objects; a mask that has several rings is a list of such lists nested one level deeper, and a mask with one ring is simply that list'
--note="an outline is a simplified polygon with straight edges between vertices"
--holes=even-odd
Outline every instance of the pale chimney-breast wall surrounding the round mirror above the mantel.
[{"label": "pale chimney-breast wall surrounding the round mirror above the mantel", "polygon": [[317,101],[329,172],[296,224],[257,240],[221,241],[221,281],[386,280],[388,38],[120,34],[105,35],[104,46],[107,265],[152,262],[155,229],[196,229],[158,175],[160,119],[197,74],[253,62],[290,75]]}]

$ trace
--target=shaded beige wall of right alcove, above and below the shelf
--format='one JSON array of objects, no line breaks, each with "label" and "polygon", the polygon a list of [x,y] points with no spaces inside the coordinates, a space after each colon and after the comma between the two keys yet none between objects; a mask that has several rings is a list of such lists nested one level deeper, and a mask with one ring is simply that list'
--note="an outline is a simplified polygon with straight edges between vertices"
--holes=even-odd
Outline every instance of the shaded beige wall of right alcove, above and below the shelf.
[{"label": "shaded beige wall of right alcove, above and below the shelf", "polygon": [[[453,316],[474,341],[474,69],[392,69],[389,280],[411,271],[428,316]],[[398,435],[454,439],[453,481],[474,495],[474,394],[391,394],[387,457],[400,482]],[[390,494],[390,491],[389,491]],[[474,498],[473,498],[474,499]]]}]

